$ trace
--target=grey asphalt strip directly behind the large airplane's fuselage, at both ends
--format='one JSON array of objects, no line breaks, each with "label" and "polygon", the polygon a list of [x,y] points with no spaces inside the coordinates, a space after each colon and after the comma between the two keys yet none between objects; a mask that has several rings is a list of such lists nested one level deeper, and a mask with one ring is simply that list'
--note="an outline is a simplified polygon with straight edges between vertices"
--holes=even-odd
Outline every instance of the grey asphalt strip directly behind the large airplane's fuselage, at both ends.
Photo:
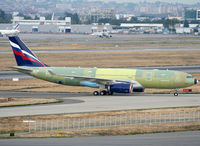
[{"label": "grey asphalt strip directly behind the large airplane's fuselage, at both ends", "polygon": [[[125,67],[124,67],[125,68]],[[200,73],[200,66],[165,66],[165,67],[127,67],[132,69],[160,69],[177,70],[187,73]],[[13,78],[30,79],[33,78],[17,71],[0,71],[0,80],[10,80]]]}]

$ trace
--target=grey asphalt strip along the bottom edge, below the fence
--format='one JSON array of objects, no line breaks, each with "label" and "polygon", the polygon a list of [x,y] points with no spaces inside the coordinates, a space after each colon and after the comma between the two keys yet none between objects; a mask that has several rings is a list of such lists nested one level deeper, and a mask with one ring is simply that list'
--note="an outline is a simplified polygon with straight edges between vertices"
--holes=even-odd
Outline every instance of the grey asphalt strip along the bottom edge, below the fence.
[{"label": "grey asphalt strip along the bottom edge, below the fence", "polygon": [[1,146],[199,146],[200,131],[75,138],[0,139]]}]

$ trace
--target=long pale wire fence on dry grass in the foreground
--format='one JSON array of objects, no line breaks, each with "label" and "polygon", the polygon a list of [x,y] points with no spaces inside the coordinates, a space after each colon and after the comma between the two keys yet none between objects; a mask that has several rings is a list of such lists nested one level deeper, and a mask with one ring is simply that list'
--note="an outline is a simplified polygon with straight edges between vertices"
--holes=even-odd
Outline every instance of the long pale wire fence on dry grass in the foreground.
[{"label": "long pale wire fence on dry grass in the foreground", "polygon": [[137,113],[87,118],[37,120],[29,122],[29,132],[104,128],[129,125],[162,124],[200,121],[200,111]]}]

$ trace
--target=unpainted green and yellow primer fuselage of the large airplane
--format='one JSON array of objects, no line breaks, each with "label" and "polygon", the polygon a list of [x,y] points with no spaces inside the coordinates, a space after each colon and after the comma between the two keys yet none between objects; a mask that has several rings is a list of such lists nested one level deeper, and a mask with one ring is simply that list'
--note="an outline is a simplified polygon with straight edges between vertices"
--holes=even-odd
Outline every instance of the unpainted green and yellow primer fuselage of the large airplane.
[{"label": "unpainted green and yellow primer fuselage of the large airplane", "polygon": [[[141,70],[115,68],[80,68],[80,67],[15,67],[31,70],[28,74],[36,78],[69,86],[82,86],[80,80],[65,76],[81,76],[104,79],[127,79],[140,83],[144,88],[175,89],[194,85],[190,74],[170,70]],[[20,69],[21,68],[21,69]],[[54,74],[49,73],[52,71]],[[63,76],[60,76],[63,75]]]}]

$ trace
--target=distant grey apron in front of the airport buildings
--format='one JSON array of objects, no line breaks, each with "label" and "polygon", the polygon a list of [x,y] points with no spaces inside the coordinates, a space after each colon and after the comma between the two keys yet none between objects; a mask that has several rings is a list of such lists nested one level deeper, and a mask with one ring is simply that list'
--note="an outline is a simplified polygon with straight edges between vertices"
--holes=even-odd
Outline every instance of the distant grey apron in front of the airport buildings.
[{"label": "distant grey apron in front of the airport buildings", "polygon": [[[95,36],[89,34],[20,34],[19,37],[22,40],[25,40],[25,43],[28,46],[38,46],[38,45],[50,45],[50,44],[71,44],[71,43],[78,43],[78,44],[95,44],[95,43],[138,43],[138,42],[149,42],[149,43],[156,43],[156,42],[197,42],[200,41],[198,36],[190,35],[162,35],[162,34],[112,34],[113,38],[97,38]],[[180,38],[179,38],[180,37]],[[190,38],[191,40],[182,39],[184,37]],[[38,39],[39,38],[39,39]],[[143,38],[143,40],[115,40],[115,38]],[[147,38],[147,39],[145,39]],[[148,38],[154,38],[149,40]],[[164,40],[157,40],[157,38],[165,38]],[[27,41],[31,40],[31,41]],[[42,40],[42,42],[38,42],[38,40]],[[46,41],[48,40],[48,41]],[[49,41],[51,40],[51,41]],[[0,45],[8,46],[9,43],[7,38],[0,38]]]}]

